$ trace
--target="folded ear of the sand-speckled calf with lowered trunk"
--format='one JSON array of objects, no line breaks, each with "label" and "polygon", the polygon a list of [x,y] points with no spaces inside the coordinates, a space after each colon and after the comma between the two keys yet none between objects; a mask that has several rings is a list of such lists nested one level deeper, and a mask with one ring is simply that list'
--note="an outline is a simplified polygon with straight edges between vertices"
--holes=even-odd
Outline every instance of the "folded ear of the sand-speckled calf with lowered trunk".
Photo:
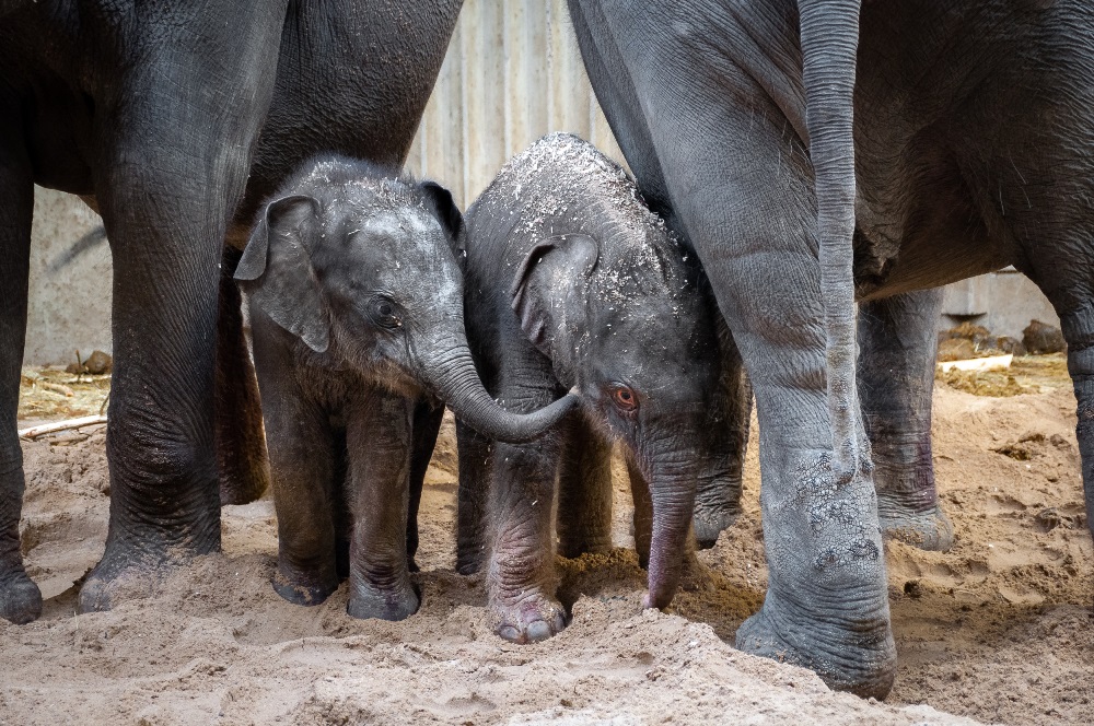
[{"label": "folded ear of the sand-speckled calf with lowered trunk", "polygon": [[[600,245],[586,234],[547,237],[517,266],[509,288],[521,329],[550,356],[549,335],[563,321],[578,324],[584,301],[573,300],[600,260]],[[582,298],[584,295],[580,295]]]}]

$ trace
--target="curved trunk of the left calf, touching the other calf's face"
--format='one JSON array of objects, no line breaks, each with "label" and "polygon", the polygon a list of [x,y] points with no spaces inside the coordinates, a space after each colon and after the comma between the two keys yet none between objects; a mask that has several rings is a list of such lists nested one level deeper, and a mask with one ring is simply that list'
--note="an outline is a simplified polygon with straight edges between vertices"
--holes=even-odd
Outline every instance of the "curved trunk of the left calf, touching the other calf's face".
[{"label": "curved trunk of the left calf, touching the other calf's face", "polygon": [[[420,351],[419,351],[420,353]],[[531,413],[514,413],[487,393],[475,370],[467,339],[457,335],[428,347],[419,356],[421,380],[444,400],[465,424],[496,441],[520,444],[538,437],[579,403],[573,394]]]}]

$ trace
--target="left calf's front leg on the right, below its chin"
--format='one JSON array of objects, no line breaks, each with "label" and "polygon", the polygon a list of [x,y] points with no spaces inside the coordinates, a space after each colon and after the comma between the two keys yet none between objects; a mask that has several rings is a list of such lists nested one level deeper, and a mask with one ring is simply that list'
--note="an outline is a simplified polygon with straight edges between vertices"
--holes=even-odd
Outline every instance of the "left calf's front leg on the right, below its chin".
[{"label": "left calf's front leg on the right, below its chin", "polygon": [[418,611],[407,562],[415,407],[415,399],[371,388],[346,410],[353,513],[348,611],[354,618],[403,620]]}]

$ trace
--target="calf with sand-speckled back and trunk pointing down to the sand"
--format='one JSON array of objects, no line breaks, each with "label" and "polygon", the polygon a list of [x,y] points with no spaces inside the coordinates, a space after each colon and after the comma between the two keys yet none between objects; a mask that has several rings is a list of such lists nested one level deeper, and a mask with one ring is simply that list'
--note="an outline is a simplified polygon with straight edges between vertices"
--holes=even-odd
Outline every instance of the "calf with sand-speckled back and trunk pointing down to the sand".
[{"label": "calf with sand-speckled back and trunk pointing down to the sand", "polygon": [[715,312],[694,257],[685,261],[618,165],[569,134],[511,160],[466,220],[465,314],[487,388],[528,411],[575,387],[581,410],[528,445],[490,442],[461,421],[457,567],[485,567],[505,640],[559,632],[556,478],[562,552],[607,550],[608,458],[619,441],[649,567],[644,602],[667,606],[696,488],[725,473],[715,455],[725,438],[710,435]]}]

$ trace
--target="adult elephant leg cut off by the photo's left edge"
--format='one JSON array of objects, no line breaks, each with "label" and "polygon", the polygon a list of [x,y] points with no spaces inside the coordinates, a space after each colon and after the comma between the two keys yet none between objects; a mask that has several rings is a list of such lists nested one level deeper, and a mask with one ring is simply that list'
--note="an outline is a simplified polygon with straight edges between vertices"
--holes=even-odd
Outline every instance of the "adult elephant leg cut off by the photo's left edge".
[{"label": "adult elephant leg cut off by the photo's left edge", "polygon": [[42,594],[23,569],[19,517],[23,453],[15,422],[26,336],[26,280],[34,185],[13,107],[0,105],[0,618],[26,623],[42,613]]}]

